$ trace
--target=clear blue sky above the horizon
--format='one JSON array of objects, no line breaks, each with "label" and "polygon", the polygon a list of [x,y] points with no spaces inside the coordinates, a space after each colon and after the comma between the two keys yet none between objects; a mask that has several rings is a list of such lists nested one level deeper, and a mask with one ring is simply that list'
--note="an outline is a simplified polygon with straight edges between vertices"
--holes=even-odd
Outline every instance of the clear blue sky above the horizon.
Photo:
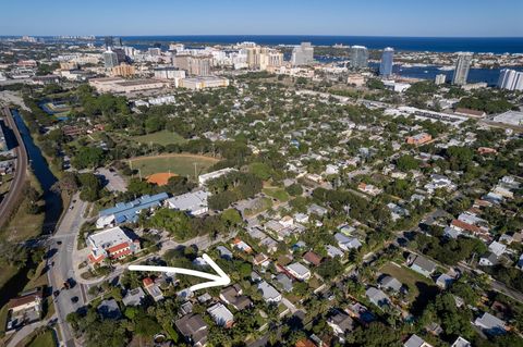
[{"label": "clear blue sky above the horizon", "polygon": [[0,35],[523,37],[523,0],[0,0]]}]

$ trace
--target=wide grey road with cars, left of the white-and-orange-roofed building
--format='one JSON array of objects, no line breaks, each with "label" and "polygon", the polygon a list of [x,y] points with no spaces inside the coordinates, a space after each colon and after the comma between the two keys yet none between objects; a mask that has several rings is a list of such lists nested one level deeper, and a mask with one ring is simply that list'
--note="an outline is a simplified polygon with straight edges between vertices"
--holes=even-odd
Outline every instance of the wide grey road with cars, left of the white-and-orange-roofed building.
[{"label": "wide grey road with cars, left of the white-and-orange-roofed building", "polygon": [[[64,213],[63,219],[57,226],[57,232],[50,239],[49,249],[51,255],[53,252],[54,255],[48,260],[50,267],[48,271],[49,285],[53,292],[60,290],[59,296],[54,299],[54,308],[64,346],[75,346],[73,332],[65,319],[69,313],[83,307],[86,300],[85,286],[80,283],[70,289],[61,290],[63,283],[68,278],[74,277],[73,248],[75,247],[75,237],[85,221],[84,212],[87,208],[87,202],[82,201],[77,194],[73,196],[71,201],[69,210]],[[61,245],[58,245],[59,241],[61,241]],[[77,302],[72,301],[73,297],[78,298]]]}]

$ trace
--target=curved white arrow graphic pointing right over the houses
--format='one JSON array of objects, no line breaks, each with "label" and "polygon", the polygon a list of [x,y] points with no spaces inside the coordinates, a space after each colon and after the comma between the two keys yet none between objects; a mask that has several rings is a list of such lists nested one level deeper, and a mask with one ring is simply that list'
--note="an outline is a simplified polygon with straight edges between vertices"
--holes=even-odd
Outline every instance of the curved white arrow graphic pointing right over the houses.
[{"label": "curved white arrow graphic pointing right over the houses", "polygon": [[149,267],[149,265],[129,265],[129,270],[131,271],[157,271],[157,272],[167,272],[167,273],[179,273],[183,275],[190,275],[190,276],[196,276],[196,277],[202,277],[202,278],[207,278],[210,280],[210,282],[204,282],[204,283],[198,283],[193,286],[191,286],[188,289],[191,292],[196,292],[199,289],[205,289],[205,288],[210,288],[210,287],[219,287],[219,286],[227,286],[228,284],[231,283],[231,278],[227,275],[227,273],[223,272],[223,270],[220,269],[216,264],[216,262],[210,259],[209,256],[203,255],[202,258],[204,258],[205,262],[209,264],[210,268],[212,268],[218,275],[214,275],[207,272],[202,272],[202,271],[196,271],[196,270],[190,270],[190,269],[182,269],[182,268],[171,268],[171,267]]}]

